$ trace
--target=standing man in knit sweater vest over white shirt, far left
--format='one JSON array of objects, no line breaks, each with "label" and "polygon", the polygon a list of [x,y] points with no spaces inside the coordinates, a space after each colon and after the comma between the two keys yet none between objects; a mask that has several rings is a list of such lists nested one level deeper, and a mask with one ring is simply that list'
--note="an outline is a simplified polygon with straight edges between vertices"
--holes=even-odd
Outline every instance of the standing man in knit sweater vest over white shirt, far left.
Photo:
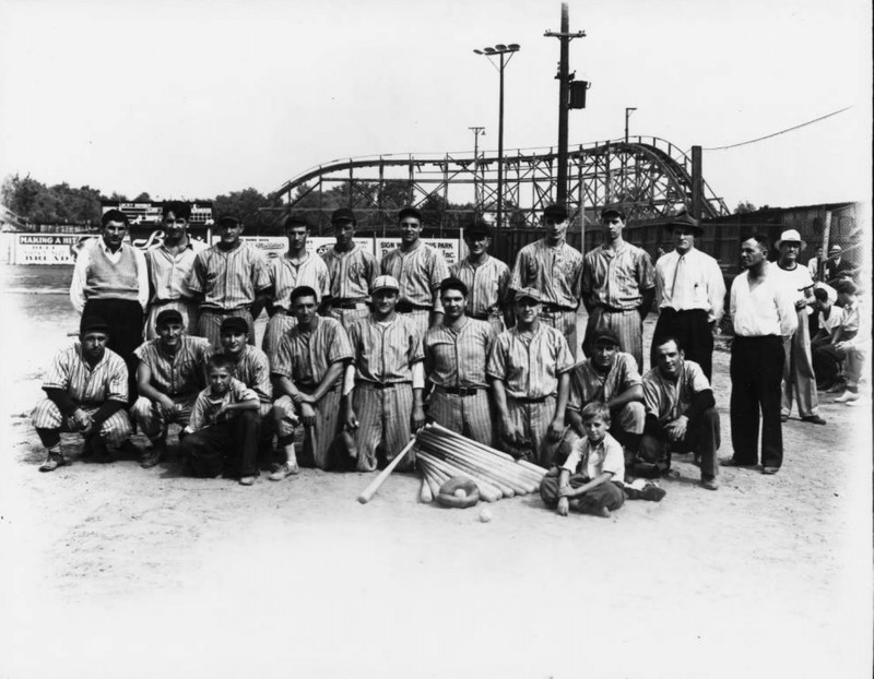
[{"label": "standing man in knit sweater vest over white shirt, far left", "polygon": [[149,301],[149,269],[139,248],[125,242],[128,215],[109,210],[101,217],[101,237],[79,252],[70,282],[70,300],[82,315],[109,324],[108,347],[128,366],[128,398],[137,395],[137,357],[143,341],[143,314]]}]

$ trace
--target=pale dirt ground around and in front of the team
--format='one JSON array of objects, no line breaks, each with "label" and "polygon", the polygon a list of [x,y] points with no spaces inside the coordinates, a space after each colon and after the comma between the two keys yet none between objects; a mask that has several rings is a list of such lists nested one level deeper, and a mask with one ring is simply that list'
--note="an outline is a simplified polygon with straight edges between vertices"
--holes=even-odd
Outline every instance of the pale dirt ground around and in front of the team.
[{"label": "pale dirt ground around and in front of the team", "polygon": [[28,414],[76,327],[69,270],[2,275],[0,678],[871,675],[870,402],[790,419],[776,476],[710,492],[678,457],[661,503],[609,520],[529,496],[484,524],[402,475],[366,505],[357,473],[244,488],[90,464],[74,438],[39,474]]}]

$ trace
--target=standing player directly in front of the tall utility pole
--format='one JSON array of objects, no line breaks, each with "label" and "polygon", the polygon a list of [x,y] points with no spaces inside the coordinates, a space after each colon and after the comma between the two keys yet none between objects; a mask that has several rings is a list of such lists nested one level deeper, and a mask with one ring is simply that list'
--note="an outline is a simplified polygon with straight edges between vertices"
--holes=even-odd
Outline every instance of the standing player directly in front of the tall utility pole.
[{"label": "standing player directly in front of the tall utility pole", "polygon": [[543,212],[546,235],[527,245],[516,255],[510,287],[541,293],[540,320],[558,330],[577,354],[577,308],[580,306],[582,255],[565,242],[567,211],[550,205]]}]

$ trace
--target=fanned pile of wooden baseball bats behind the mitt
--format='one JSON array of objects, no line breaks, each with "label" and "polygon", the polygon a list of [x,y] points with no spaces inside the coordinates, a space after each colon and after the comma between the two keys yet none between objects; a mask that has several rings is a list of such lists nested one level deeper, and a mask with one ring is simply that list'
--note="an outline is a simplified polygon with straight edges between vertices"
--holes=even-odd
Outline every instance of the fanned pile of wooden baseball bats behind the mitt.
[{"label": "fanned pile of wooden baseball bats behind the mitt", "polygon": [[434,500],[440,486],[451,477],[472,480],[480,489],[482,500],[495,502],[536,492],[546,474],[542,467],[513,460],[507,453],[436,424],[420,429],[416,449],[416,466],[422,473],[420,499],[423,502]]}]

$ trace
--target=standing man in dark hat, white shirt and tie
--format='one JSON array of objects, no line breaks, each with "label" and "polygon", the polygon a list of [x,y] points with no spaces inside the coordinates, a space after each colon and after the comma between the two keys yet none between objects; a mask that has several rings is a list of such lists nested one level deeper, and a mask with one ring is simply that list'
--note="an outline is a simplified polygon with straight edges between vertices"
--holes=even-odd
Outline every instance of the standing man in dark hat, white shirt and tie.
[{"label": "standing man in dark hat, white shirt and tie", "polygon": [[713,377],[713,327],[722,319],[725,298],[722,270],[712,257],[695,248],[695,239],[704,235],[697,219],[683,213],[666,227],[673,231],[675,249],[656,262],[659,321],[649,362],[656,367],[661,341],[675,337],[686,360],[698,364],[709,382]]}]

